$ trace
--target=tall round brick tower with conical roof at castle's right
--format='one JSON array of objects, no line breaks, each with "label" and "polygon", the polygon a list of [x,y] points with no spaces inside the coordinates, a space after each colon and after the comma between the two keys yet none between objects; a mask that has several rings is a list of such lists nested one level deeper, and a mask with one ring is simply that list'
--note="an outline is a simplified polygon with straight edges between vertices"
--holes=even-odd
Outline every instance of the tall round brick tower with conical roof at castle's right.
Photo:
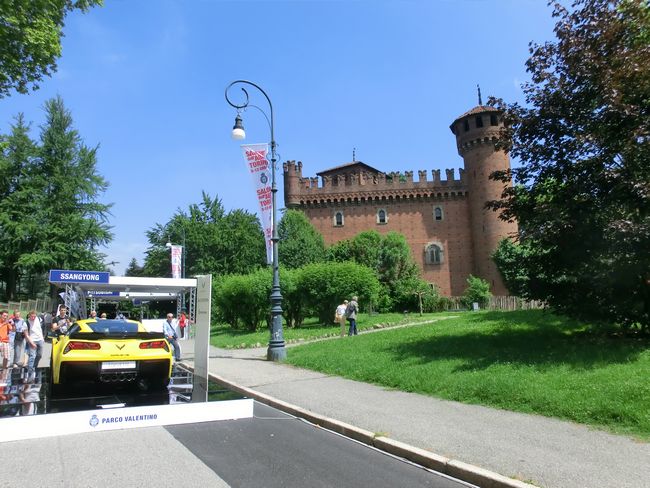
[{"label": "tall round brick tower with conical roof at castle's right", "polygon": [[499,218],[498,212],[485,208],[486,202],[500,199],[504,189],[502,182],[489,179],[490,174],[510,168],[509,156],[494,147],[502,127],[501,112],[482,105],[480,89],[479,105],[458,117],[449,127],[456,136],[458,154],[465,164],[473,274],[487,280],[494,295],[507,295],[508,291],[491,254],[501,239],[517,234],[516,223],[505,222]]}]

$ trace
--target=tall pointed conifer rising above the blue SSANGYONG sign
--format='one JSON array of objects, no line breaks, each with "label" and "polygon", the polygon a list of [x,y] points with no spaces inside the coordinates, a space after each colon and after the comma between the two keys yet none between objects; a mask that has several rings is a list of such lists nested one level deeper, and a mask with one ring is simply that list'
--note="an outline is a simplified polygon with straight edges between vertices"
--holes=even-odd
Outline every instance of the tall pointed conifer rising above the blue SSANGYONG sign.
[{"label": "tall pointed conifer rising above the blue SSANGYONG sign", "polygon": [[30,177],[35,209],[30,238],[37,245],[21,255],[19,264],[40,272],[103,269],[105,256],[99,249],[112,239],[111,205],[99,201],[108,183],[97,171],[97,148],[83,143],[60,97],[48,100],[45,112]]}]

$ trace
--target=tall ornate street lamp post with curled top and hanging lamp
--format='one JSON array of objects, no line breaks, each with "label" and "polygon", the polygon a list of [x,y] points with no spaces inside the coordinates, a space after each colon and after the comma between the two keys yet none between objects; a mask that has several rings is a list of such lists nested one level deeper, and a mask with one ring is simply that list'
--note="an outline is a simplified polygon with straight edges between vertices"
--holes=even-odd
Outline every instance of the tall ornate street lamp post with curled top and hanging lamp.
[{"label": "tall ornate street lamp post with curled top and hanging lamp", "polygon": [[[241,86],[241,90],[244,93],[245,100],[242,104],[233,103],[230,98],[228,98],[228,90],[234,85],[250,85],[254,88],[257,88],[262,95],[266,98],[266,101],[269,104],[271,119],[266,116],[266,113],[256,105],[249,105],[248,92],[246,88]],[[236,80],[233,81],[230,85],[226,87],[226,101],[228,104],[237,110],[237,116],[235,117],[235,126],[232,130],[232,138],[235,140],[242,140],[246,137],[244,132],[244,126],[242,124],[242,118],[240,113],[242,110],[247,107],[254,107],[258,109],[269,124],[271,129],[271,242],[273,248],[273,285],[271,288],[271,338],[269,340],[269,347],[266,353],[266,358],[269,361],[283,361],[287,357],[287,350],[284,345],[284,334],[282,331],[282,294],[280,293],[280,270],[279,270],[279,261],[278,261],[278,227],[276,222],[276,210],[277,206],[275,203],[275,195],[278,191],[275,183],[275,163],[276,163],[276,154],[275,154],[275,136],[273,132],[273,105],[271,104],[271,99],[266,94],[266,92],[260,88],[258,85],[251,81],[247,80]]]}]

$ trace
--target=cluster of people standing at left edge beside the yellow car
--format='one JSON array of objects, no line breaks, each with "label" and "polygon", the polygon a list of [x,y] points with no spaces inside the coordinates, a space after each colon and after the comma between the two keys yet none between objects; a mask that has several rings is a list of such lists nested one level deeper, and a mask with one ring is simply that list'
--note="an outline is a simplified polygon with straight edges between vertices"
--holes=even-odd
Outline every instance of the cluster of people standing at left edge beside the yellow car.
[{"label": "cluster of people standing at left edge beside the yellow car", "polygon": [[[0,358],[1,368],[24,368],[29,373],[38,368],[43,356],[45,334],[41,320],[35,310],[29,312],[27,320],[21,317],[20,310],[9,316],[7,310],[0,310]],[[25,355],[27,360],[25,361]]]}]

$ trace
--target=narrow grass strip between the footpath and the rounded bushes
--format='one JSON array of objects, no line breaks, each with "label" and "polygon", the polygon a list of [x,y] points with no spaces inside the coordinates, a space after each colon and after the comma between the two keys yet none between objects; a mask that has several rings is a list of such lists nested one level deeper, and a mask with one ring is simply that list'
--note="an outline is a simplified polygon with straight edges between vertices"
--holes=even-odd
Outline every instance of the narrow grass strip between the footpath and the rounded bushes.
[{"label": "narrow grass strip between the footpath and the rounded bushes", "polygon": [[[448,317],[454,315],[452,313],[429,313],[422,316],[418,314],[404,315],[401,313],[387,313],[368,315],[361,314],[357,320],[357,329],[359,331],[372,329],[375,327],[391,327],[395,325],[402,325],[411,322],[425,322],[430,320],[439,319],[440,317]],[[307,319],[302,327],[294,329],[284,329],[284,340],[287,343],[309,341],[325,337],[336,337],[341,334],[341,327],[338,324],[322,325],[316,319]],[[347,331],[347,325],[346,325]],[[346,332],[347,333],[347,332]],[[232,327],[222,324],[217,324],[212,327],[212,337],[210,342],[215,347],[225,348],[246,348],[256,346],[266,346],[269,343],[268,329],[258,330],[256,332],[248,332],[243,330],[234,330]]]}]

